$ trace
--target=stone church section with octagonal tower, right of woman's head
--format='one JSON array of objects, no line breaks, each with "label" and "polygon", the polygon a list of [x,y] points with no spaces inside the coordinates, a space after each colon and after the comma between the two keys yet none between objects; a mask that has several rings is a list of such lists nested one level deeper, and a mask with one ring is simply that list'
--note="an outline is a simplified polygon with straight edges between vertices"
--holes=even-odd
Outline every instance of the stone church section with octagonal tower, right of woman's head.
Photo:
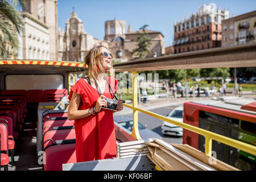
[{"label": "stone church section with octagonal tower, right of woman's head", "polygon": [[[113,59],[119,62],[138,59],[133,49],[137,48],[137,37],[142,33],[142,30],[131,31],[129,24],[128,31],[125,31],[125,21],[123,20],[108,20],[105,23],[105,40],[109,42],[109,49],[113,53]],[[148,38],[151,38],[151,44],[148,47],[150,53],[146,57],[163,56],[164,36],[161,32],[145,30]]]}]

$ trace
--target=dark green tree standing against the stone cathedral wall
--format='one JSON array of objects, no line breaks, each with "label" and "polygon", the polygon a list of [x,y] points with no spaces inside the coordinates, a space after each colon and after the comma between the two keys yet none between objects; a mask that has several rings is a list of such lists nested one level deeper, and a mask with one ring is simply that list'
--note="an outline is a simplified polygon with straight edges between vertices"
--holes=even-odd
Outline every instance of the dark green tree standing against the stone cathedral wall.
[{"label": "dark green tree standing against the stone cathedral wall", "polygon": [[139,32],[139,35],[137,37],[137,48],[133,49],[133,53],[136,53],[137,56],[139,56],[139,59],[144,59],[150,51],[148,50],[148,46],[151,44],[151,38],[148,38],[146,27],[148,25],[145,24],[139,30],[142,30],[142,32]]}]

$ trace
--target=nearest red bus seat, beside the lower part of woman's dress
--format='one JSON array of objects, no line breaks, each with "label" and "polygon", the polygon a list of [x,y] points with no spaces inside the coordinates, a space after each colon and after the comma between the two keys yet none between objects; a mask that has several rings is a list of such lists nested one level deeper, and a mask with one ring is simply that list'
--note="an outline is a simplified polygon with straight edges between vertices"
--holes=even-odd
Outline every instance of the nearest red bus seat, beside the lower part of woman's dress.
[{"label": "nearest red bus seat, beside the lower part of woman's dress", "polygon": [[62,164],[76,163],[76,143],[46,148],[43,160],[44,171],[62,171]]}]

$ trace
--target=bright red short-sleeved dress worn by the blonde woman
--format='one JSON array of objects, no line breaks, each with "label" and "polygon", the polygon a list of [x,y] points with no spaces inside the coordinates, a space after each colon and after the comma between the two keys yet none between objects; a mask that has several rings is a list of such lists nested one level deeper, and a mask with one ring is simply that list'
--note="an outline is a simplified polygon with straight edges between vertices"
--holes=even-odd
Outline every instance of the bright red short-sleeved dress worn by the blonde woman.
[{"label": "bright red short-sleeved dress worn by the blonde woman", "polygon": [[[115,78],[108,78],[113,92],[117,92],[118,81]],[[80,94],[81,101],[78,110],[88,109],[96,105],[100,96],[98,91],[81,78],[72,86],[69,93],[69,101],[73,92]],[[106,83],[103,93],[107,98],[113,98],[112,92]],[[76,131],[76,159],[77,162],[90,160],[109,159],[116,156],[116,139],[113,122],[113,111],[101,109],[96,115],[86,118],[75,119]]]}]

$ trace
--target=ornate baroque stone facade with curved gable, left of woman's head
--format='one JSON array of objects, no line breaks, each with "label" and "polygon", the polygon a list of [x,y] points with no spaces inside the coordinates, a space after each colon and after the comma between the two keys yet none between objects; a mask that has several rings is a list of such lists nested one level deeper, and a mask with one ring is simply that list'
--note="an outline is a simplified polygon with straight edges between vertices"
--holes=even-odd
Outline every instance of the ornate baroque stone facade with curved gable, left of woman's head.
[{"label": "ornate baroque stone facade with curved gable, left of woman's head", "polygon": [[84,30],[84,23],[75,12],[65,22],[65,31],[59,28],[58,32],[58,60],[60,61],[84,61],[86,53],[94,46],[109,47],[105,40],[93,38]]}]

